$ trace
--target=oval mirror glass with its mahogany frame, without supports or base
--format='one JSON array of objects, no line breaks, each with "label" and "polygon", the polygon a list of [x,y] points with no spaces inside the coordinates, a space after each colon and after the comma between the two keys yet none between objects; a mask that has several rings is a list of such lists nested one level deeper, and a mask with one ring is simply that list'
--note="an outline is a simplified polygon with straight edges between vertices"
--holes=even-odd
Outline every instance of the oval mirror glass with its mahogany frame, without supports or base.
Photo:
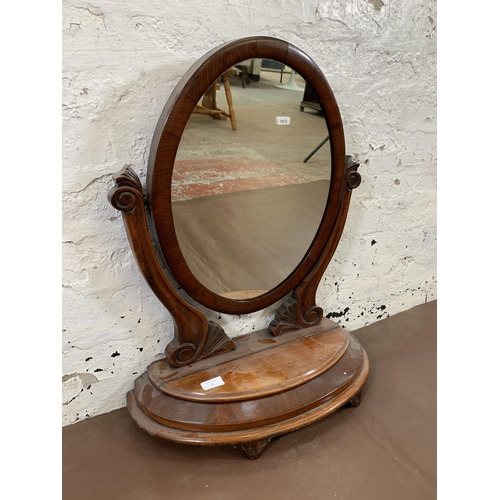
[{"label": "oval mirror glass with its mahogany frame, without supports or base", "polygon": [[150,209],[170,272],[217,311],[276,302],[324,251],[344,164],[337,105],[308,56],[260,37],[212,51],[153,141]]}]

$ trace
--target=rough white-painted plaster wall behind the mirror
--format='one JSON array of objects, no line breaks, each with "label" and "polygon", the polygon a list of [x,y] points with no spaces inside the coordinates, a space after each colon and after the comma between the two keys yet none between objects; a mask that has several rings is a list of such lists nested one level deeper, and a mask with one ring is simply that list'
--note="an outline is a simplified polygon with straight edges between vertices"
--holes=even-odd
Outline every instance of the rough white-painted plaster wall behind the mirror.
[{"label": "rough white-painted plaster wall behind the mirror", "polygon": [[[64,0],[62,29],[63,425],[124,406],[172,337],[106,196],[125,164],[145,179],[168,95],[225,41],[275,36],[308,53],[362,163],[318,305],[354,330],[435,298],[434,1]],[[220,322],[236,334],[271,312]]]}]

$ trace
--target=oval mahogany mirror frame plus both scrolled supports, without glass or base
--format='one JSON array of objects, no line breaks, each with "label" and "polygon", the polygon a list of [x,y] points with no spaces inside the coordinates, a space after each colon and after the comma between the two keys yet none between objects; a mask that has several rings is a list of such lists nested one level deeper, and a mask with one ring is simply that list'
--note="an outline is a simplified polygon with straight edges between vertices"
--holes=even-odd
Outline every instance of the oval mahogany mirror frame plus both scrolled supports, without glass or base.
[{"label": "oval mahogany mirror frame plus both scrolled supports, without glass or base", "polygon": [[[332,174],[318,231],[295,270],[261,296],[233,300],[205,288],[184,260],[172,215],[172,176],[182,133],[201,96],[232,65],[257,57],[287,64],[310,84],[328,128]],[[208,321],[196,304],[180,297],[178,285],[199,304],[237,315],[264,309],[292,291],[269,324],[273,336],[321,322],[323,310],[316,305],[316,290],[342,235],[351,191],[361,183],[358,166],[350,156],[345,156],[342,120],[326,78],[311,58],[293,45],[269,37],[244,38],[215,48],[191,67],[175,87],[158,120],[146,192],[134,170],[126,166],[114,175],[116,185],[108,195],[110,203],[122,212],[142,274],[173,317],[174,339],[165,351],[172,366],[186,366],[235,348],[220,325]]]}]

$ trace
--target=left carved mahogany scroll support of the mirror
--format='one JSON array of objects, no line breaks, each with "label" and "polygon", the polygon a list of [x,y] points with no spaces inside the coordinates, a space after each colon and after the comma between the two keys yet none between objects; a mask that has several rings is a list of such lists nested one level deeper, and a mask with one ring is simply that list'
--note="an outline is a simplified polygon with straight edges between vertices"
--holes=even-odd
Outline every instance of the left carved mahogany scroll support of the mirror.
[{"label": "left carved mahogany scroll support of the mirror", "polygon": [[113,179],[116,186],[108,194],[109,202],[122,212],[137,264],[175,323],[174,339],[165,350],[170,364],[185,366],[235,349],[222,327],[207,321],[202,313],[182,300],[166,278],[151,241],[146,201],[137,174],[127,165],[113,175]]}]

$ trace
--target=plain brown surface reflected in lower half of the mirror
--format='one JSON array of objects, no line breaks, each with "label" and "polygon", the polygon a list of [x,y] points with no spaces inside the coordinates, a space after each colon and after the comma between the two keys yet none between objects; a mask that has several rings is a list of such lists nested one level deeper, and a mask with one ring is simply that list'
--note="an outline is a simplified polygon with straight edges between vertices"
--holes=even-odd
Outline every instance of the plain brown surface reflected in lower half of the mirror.
[{"label": "plain brown surface reflected in lower half of the mirror", "polygon": [[229,298],[271,290],[306,254],[328,187],[320,180],[177,202],[174,224],[189,269]]}]

